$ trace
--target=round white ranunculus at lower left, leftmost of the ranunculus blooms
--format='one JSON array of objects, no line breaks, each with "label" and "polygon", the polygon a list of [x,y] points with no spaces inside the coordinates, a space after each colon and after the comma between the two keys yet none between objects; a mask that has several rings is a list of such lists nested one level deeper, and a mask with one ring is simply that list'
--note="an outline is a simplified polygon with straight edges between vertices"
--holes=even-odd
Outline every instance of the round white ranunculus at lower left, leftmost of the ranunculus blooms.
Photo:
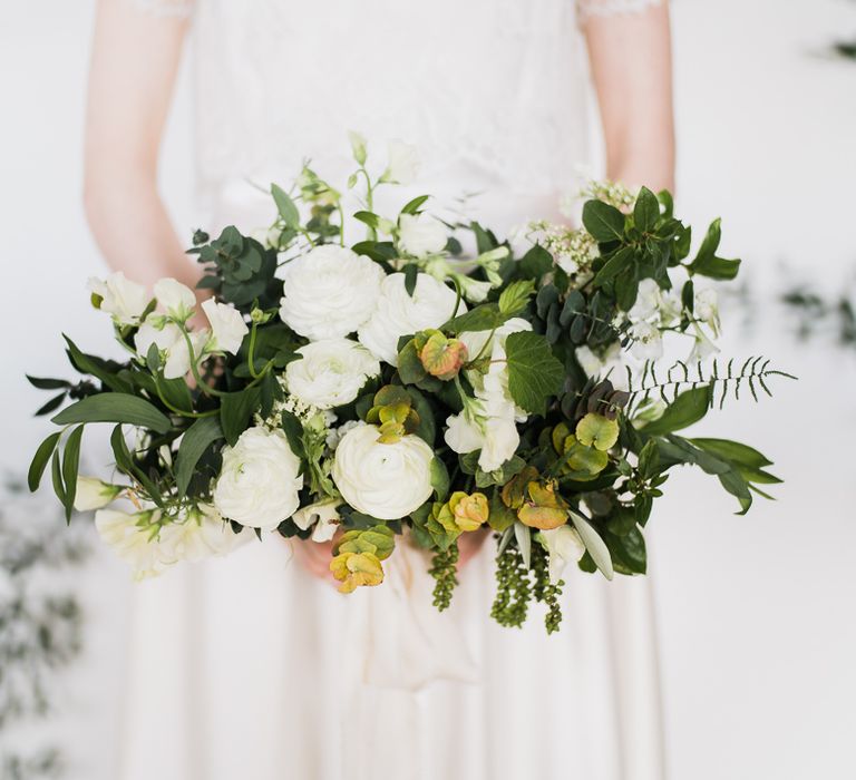
[{"label": "round white ranunculus at lower left, leftmost of the ranunculus blooms", "polygon": [[252,528],[273,529],[300,506],[300,459],[281,430],[247,428],[223,448],[214,506],[223,517]]}]

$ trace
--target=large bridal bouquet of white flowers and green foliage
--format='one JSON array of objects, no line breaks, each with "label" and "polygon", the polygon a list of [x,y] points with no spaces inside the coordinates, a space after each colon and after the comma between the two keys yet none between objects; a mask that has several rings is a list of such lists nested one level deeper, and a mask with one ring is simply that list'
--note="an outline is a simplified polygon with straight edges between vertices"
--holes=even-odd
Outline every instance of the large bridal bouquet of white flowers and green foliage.
[{"label": "large bridal bouquet of white flowers and green foliage", "polygon": [[[364,240],[346,241],[346,197],[307,166],[290,192],[272,186],[262,235],[195,234],[205,326],[183,284],[152,296],[115,273],[90,282],[91,302],[126,359],[66,337],[84,378],[30,378],[59,391],[39,413],[74,401],[30,488],[50,465],[66,511],[97,509],[138,576],[227,553],[252,528],[332,542],[347,593],[380,584],[407,534],[432,553],[445,608],[458,539],[488,527],[493,616],[518,626],[535,599],[554,631],[567,564],[645,572],[643,529],[674,466],[717,477],[741,513],[779,481],[751,447],[678,432],[714,398],[784,376],[761,358],[709,360],[717,301],[697,281],[739,267],[717,255],[718,222],[691,257],[668,193],[593,185],[582,227],[532,223],[513,246],[436,218],[428,196],[377,213],[379,187],[414,178],[414,150],[391,144],[372,174],[364,140],[351,143],[363,208],[350,226],[364,223]],[[664,335],[689,357],[663,367]],[[95,422],[114,426],[110,482],[78,475]]]}]

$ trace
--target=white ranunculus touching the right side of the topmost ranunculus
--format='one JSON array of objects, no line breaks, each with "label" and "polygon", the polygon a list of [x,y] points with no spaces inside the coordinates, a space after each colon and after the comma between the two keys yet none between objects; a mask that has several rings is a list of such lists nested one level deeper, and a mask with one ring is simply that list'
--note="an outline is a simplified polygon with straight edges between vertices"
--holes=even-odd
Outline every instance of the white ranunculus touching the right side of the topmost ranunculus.
[{"label": "white ranunculus touching the right side of the topmost ranunculus", "polygon": [[[439,328],[455,311],[455,291],[434,276],[420,273],[412,296],[405,287],[405,274],[383,280],[380,299],[371,319],[359,329],[360,343],[390,365],[398,365],[398,340],[427,328]],[[461,301],[458,314],[467,310]]]}]

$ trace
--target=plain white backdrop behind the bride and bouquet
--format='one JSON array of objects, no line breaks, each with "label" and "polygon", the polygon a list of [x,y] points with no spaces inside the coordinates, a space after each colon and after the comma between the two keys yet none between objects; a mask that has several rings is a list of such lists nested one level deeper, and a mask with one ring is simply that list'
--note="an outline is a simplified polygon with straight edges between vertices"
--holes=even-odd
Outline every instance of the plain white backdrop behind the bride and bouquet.
[{"label": "plain white backdrop behind the bride and bouquet", "polygon": [[[47,430],[30,418],[43,398],[23,372],[64,371],[60,325],[89,351],[110,347],[84,291],[104,271],[80,203],[93,6],[0,0],[2,470],[20,471]],[[856,264],[856,64],[821,51],[856,35],[856,3],[678,0],[673,18],[679,213],[694,224],[723,217],[726,254],[745,259],[761,298],[781,289],[785,262],[835,289]],[[185,77],[163,165],[163,191],[186,228],[196,226],[188,100]],[[748,331],[733,316],[726,349],[762,347],[801,380],[699,433],[762,443],[787,480],[779,500],[735,517],[709,478],[680,474],[649,535],[679,780],[856,777],[856,410],[847,402],[856,355],[797,344],[769,303],[761,319]],[[58,694],[54,730],[68,743],[70,777],[110,780],[128,585],[99,556],[84,587],[88,651]]]}]

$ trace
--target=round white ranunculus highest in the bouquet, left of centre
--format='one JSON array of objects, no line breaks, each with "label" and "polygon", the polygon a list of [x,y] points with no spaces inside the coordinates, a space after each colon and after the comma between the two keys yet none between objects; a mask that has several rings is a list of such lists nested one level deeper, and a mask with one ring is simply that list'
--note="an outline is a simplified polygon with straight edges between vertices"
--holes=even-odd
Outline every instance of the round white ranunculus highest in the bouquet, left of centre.
[{"label": "round white ranunculus highest in the bouquet, left of centre", "polygon": [[285,265],[280,316],[311,341],[341,339],[371,316],[385,276],[351,250],[317,246]]}]

